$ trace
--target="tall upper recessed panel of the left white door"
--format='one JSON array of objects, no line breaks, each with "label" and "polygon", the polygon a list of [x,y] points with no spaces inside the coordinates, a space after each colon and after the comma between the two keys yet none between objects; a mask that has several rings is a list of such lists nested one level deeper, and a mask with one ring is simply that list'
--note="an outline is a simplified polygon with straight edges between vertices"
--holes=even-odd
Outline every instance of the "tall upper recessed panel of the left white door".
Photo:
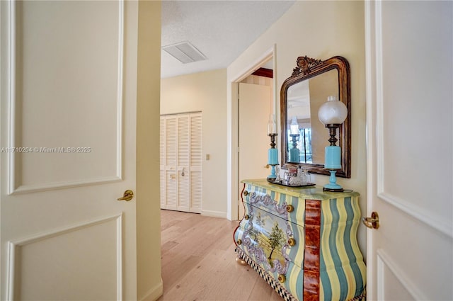
[{"label": "tall upper recessed panel of the left white door", "polygon": [[11,7],[10,192],[120,179],[122,5]]}]

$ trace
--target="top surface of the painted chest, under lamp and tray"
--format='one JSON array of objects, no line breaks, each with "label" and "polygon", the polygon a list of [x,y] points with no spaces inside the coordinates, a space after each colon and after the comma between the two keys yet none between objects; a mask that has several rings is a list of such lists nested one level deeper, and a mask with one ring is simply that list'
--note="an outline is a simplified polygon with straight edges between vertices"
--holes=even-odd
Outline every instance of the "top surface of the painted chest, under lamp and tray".
[{"label": "top surface of the painted chest, under lamp and tray", "polygon": [[345,190],[343,193],[333,193],[323,191],[323,188],[319,186],[309,187],[289,187],[278,184],[269,183],[265,178],[253,178],[241,181],[241,183],[252,184],[262,188],[277,191],[279,193],[285,193],[287,195],[297,196],[299,198],[311,198],[315,200],[325,200],[326,198],[345,198],[348,196],[358,196],[360,193],[357,191]]}]

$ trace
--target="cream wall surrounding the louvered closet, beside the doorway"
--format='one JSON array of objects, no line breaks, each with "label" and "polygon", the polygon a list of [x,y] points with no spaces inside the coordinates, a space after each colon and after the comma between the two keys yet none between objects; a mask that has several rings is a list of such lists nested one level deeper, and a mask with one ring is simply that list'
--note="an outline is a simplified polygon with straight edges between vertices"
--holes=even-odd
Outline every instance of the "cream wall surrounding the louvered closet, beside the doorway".
[{"label": "cream wall surrounding the louvered closet, beside the doorway", "polygon": [[225,83],[226,69],[161,79],[161,114],[202,111],[202,215],[215,217],[226,217]]}]

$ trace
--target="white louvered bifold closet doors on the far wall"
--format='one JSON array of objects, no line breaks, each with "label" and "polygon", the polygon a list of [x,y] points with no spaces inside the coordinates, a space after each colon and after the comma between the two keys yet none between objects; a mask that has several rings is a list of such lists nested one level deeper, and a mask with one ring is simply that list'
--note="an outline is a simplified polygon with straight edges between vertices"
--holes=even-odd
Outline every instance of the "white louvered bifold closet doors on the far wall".
[{"label": "white louvered bifold closet doors on the far wall", "polygon": [[201,211],[201,113],[161,116],[161,208]]}]

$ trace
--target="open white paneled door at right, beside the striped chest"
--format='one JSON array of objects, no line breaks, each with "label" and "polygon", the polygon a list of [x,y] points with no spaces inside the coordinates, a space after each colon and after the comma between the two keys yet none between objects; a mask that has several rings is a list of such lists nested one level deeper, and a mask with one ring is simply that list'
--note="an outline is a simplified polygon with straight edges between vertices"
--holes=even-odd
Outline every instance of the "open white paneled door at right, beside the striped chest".
[{"label": "open white paneled door at right, beside the striped chest", "polygon": [[365,7],[368,300],[452,300],[453,2]]}]

